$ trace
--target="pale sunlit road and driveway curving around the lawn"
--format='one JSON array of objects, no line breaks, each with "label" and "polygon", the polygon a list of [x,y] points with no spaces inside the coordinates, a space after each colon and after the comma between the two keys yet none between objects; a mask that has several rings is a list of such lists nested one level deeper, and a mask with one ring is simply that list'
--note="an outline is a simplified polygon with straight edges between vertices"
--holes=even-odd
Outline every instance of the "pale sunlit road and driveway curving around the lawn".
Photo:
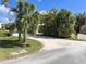
[{"label": "pale sunlit road and driveway curving around the lawn", "polygon": [[29,36],[44,44],[34,54],[1,62],[0,64],[86,64],[86,41]]}]

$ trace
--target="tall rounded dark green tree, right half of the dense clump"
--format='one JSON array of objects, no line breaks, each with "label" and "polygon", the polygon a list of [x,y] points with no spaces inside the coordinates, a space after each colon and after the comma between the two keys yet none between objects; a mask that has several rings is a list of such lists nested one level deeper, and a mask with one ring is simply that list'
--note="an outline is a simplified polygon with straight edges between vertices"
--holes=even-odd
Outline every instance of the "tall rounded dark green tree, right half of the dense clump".
[{"label": "tall rounded dark green tree, right half of the dense clump", "polygon": [[[56,21],[57,21],[57,31],[58,31],[58,37],[71,37],[74,28],[73,28],[73,23],[71,12],[61,9],[61,11],[57,14]],[[70,20],[71,18],[71,20]]]}]

